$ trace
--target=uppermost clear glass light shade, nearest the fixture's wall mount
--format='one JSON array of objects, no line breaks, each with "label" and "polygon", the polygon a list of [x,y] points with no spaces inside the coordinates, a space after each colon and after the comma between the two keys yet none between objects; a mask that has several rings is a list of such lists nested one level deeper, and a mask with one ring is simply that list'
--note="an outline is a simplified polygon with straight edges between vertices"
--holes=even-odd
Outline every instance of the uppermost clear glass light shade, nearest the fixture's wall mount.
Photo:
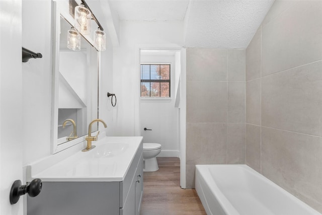
[{"label": "uppermost clear glass light shade, nearest the fixture's wall mount", "polygon": [[75,29],[81,34],[91,33],[91,12],[83,7],[75,7]]}]

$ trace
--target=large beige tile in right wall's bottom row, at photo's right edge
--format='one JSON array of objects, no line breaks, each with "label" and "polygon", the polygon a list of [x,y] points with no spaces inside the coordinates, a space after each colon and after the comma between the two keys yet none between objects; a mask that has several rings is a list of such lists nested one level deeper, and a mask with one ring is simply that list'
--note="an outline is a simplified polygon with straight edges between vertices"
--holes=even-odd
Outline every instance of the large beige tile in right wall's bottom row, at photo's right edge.
[{"label": "large beige tile in right wall's bottom row, at photo's right edge", "polygon": [[322,138],[262,127],[262,174],[322,211]]}]

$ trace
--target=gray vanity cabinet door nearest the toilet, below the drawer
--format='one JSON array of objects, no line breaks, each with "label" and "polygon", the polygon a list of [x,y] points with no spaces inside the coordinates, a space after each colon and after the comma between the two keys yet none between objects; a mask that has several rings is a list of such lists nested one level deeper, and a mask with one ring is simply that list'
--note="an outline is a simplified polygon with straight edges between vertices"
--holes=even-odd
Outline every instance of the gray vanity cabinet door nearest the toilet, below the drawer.
[{"label": "gray vanity cabinet door nearest the toilet, below the drawer", "polygon": [[143,196],[143,159],[140,158],[140,162],[137,166],[135,173],[136,182],[135,182],[135,215],[140,214],[141,202]]}]

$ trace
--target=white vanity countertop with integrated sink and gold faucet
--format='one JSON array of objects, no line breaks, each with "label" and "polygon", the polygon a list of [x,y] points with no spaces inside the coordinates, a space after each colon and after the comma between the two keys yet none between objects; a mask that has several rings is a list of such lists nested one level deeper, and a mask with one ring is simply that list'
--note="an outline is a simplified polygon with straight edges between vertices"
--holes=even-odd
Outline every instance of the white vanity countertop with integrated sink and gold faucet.
[{"label": "white vanity countertop with integrated sink and gold faucet", "polygon": [[79,150],[41,171],[36,167],[40,164],[28,165],[27,175],[30,180],[40,178],[42,181],[123,181],[142,138],[106,136],[93,141],[96,148],[91,151]]}]

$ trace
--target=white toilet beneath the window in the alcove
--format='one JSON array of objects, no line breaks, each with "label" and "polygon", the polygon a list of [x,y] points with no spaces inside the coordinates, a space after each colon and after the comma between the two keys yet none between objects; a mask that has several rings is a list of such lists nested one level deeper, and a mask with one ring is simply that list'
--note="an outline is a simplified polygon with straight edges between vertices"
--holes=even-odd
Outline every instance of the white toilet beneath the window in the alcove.
[{"label": "white toilet beneath the window in the alcove", "polygon": [[154,143],[143,143],[143,171],[153,172],[159,169],[156,156],[161,152],[161,145]]}]

